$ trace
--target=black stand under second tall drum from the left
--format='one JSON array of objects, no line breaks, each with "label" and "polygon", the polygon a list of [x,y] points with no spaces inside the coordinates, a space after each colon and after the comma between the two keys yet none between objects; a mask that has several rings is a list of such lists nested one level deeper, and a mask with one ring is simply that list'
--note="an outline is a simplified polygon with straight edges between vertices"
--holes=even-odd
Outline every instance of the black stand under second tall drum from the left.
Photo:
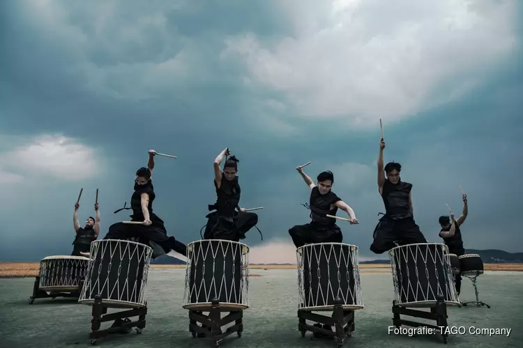
[{"label": "black stand under second tall drum from the left", "polygon": [[[209,315],[204,315],[204,312],[209,312]],[[229,313],[222,317],[222,312]],[[225,332],[222,331],[222,326],[234,322],[234,325],[229,326]],[[202,324],[199,326],[198,324]],[[204,308],[189,310],[189,331],[192,337],[211,338],[214,347],[220,347],[220,343],[231,333],[237,333],[241,337],[243,332],[243,310],[232,309],[229,306],[220,306],[218,299],[211,301],[211,306]]]}]

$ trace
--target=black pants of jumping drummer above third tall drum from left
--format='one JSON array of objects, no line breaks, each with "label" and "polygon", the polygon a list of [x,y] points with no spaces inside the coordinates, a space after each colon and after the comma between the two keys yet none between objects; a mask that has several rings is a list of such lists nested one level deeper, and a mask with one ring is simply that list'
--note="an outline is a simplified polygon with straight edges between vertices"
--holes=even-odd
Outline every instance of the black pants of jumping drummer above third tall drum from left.
[{"label": "black pants of jumping drummer above third tall drum from left", "polygon": [[296,248],[305,244],[343,242],[342,231],[336,224],[305,223],[305,225],[296,225],[289,230],[289,235],[291,235]]}]

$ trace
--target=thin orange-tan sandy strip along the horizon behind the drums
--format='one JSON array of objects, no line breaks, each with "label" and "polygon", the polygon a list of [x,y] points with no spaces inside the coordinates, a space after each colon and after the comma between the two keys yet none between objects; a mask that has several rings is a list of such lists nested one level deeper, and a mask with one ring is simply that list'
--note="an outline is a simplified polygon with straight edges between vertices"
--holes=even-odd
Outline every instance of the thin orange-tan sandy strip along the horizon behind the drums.
[{"label": "thin orange-tan sandy strip along the horizon behind the drums", "polygon": [[[185,269],[185,265],[151,264],[153,269]],[[294,264],[251,264],[250,269],[296,269]],[[362,272],[390,272],[389,264],[360,264]],[[523,271],[523,264],[485,264],[485,271]],[[0,262],[0,278],[38,276],[38,262]],[[259,274],[251,274],[259,276]]]}]

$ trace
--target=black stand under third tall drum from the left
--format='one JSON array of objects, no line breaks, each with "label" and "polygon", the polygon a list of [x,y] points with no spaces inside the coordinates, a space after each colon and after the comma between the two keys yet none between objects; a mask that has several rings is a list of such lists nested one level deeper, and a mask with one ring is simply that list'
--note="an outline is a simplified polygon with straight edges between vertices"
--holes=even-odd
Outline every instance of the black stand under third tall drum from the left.
[{"label": "black stand under third tall drum from the left", "polygon": [[[354,310],[343,310],[343,302],[340,297],[336,297],[334,303],[333,315],[331,317],[312,313],[313,309],[298,310],[298,331],[301,332],[301,337],[305,337],[305,333],[310,331],[315,336],[335,338],[338,348],[342,347],[345,339],[351,337],[354,331]],[[318,324],[307,324],[307,320],[317,322]],[[327,329],[325,329],[326,326]],[[332,326],[334,326],[334,331],[330,329]]]}]

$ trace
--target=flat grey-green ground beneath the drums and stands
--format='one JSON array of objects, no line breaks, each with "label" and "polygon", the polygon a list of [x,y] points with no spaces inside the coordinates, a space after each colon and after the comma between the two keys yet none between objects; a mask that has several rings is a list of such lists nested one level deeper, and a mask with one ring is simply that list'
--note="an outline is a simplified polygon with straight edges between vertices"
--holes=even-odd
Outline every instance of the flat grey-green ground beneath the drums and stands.
[{"label": "flat grey-green ground beneath the drums and stands", "polygon": [[[328,340],[301,338],[296,316],[296,269],[256,269],[250,278],[250,308],[244,313],[243,337],[230,335],[222,347],[336,347]],[[98,340],[98,347],[212,347],[204,338],[192,338],[183,303],[185,270],[151,269],[148,280],[149,314],[142,335],[134,331]],[[37,299],[29,305],[34,278],[0,279],[0,347],[91,347],[91,307],[68,299]],[[390,272],[362,270],[365,308],[356,312],[356,330],[344,347],[444,347],[439,335],[393,335]],[[512,329],[510,335],[451,335],[457,348],[521,347],[523,342],[523,274],[487,271],[478,278],[480,300],[486,307],[448,308],[449,326]],[[463,279],[462,301],[474,299],[471,281]],[[408,317],[406,318],[408,319]],[[108,325],[108,324],[107,324]],[[103,326],[104,328],[104,326]],[[517,343],[520,342],[520,343]]]}]

